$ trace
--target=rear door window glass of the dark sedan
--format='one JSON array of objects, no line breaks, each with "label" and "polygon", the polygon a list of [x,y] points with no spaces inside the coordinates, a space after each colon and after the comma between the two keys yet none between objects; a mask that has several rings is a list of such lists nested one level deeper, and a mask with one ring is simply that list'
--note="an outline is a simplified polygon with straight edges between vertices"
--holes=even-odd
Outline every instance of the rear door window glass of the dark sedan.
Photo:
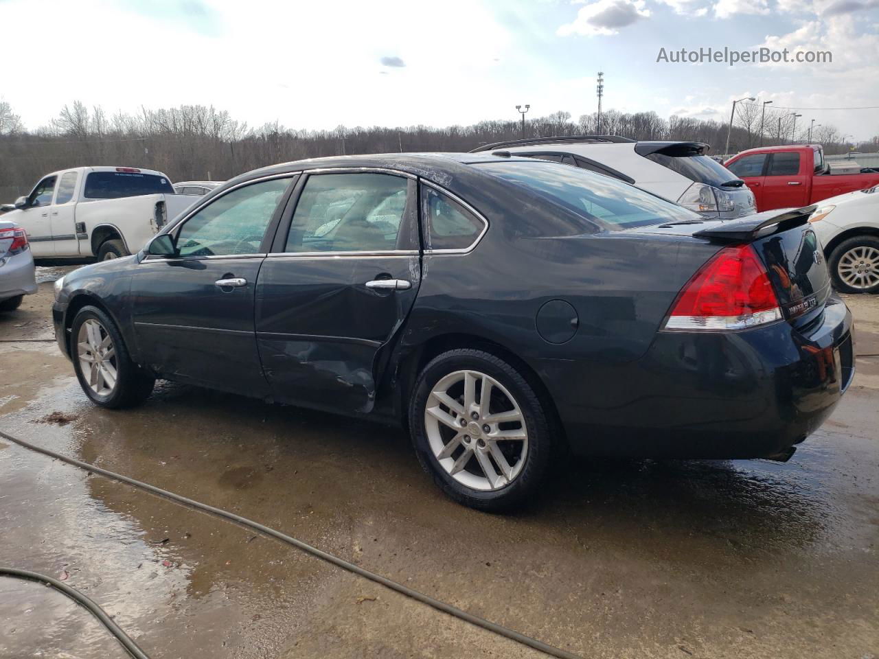
[{"label": "rear door window glass of the dark sedan", "polygon": [[407,185],[392,174],[309,176],[285,251],[396,250]]}]

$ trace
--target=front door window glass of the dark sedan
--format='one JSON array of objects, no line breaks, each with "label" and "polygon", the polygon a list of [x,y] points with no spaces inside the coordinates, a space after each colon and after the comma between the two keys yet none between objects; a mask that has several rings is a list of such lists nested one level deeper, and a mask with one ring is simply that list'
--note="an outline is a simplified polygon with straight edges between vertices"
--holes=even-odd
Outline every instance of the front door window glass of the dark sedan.
[{"label": "front door window glass of the dark sedan", "polygon": [[237,188],[185,221],[177,238],[181,257],[256,254],[289,178]]}]

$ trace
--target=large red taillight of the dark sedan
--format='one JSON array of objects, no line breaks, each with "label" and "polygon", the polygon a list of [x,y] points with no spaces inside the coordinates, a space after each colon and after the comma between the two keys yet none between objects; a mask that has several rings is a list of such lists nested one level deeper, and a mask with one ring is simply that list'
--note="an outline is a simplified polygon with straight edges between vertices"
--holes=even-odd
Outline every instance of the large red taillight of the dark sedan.
[{"label": "large red taillight of the dark sedan", "polygon": [[725,247],[690,279],[665,329],[743,329],[781,318],[766,267],[750,245]]}]

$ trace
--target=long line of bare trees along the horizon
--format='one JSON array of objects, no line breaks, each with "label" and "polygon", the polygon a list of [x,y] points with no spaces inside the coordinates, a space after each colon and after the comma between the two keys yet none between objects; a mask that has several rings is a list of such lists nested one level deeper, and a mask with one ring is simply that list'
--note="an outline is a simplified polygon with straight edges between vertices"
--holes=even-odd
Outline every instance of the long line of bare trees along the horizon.
[{"label": "long line of bare trees along the horizon", "polygon": [[[730,134],[730,152],[763,144],[805,141],[808,126],[767,110],[762,140],[756,104],[739,104]],[[781,119],[781,120],[780,120]],[[802,121],[802,119],[801,119]],[[601,134],[636,140],[703,141],[720,154],[729,125],[713,119],[672,116],[656,112],[602,113]],[[796,133],[794,134],[794,129]],[[597,134],[596,113],[572,119],[570,112],[553,112],[528,119],[526,137]],[[64,105],[47,126],[25,129],[20,117],[0,101],[0,202],[26,194],[43,174],[69,167],[118,164],[165,172],[172,181],[225,180],[272,163],[318,156],[401,151],[469,151],[482,144],[522,137],[518,120],[485,120],[470,126],[344,127],[299,130],[280,123],[249,127],[229,112],[207,105],[180,105],[136,114],[108,115],[101,107],[76,101]],[[822,126],[812,141],[828,154],[849,147],[835,127]],[[879,137],[861,144],[877,150]]]}]

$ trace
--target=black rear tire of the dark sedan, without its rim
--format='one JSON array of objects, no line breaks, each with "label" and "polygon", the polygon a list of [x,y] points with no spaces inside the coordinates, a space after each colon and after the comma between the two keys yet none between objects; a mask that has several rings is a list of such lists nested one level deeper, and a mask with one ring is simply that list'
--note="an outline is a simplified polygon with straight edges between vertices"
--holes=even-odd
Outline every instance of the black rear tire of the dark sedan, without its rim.
[{"label": "black rear tire of the dark sedan, without its rim", "polygon": [[[433,453],[425,427],[425,406],[432,387],[449,373],[474,370],[497,380],[515,399],[527,429],[527,453],[519,474],[494,490],[472,489],[451,476]],[[511,511],[532,499],[547,473],[554,441],[547,410],[525,377],[503,359],[482,350],[459,348],[433,358],[418,374],[410,399],[409,425],[418,461],[447,496],[480,511]]]}]

